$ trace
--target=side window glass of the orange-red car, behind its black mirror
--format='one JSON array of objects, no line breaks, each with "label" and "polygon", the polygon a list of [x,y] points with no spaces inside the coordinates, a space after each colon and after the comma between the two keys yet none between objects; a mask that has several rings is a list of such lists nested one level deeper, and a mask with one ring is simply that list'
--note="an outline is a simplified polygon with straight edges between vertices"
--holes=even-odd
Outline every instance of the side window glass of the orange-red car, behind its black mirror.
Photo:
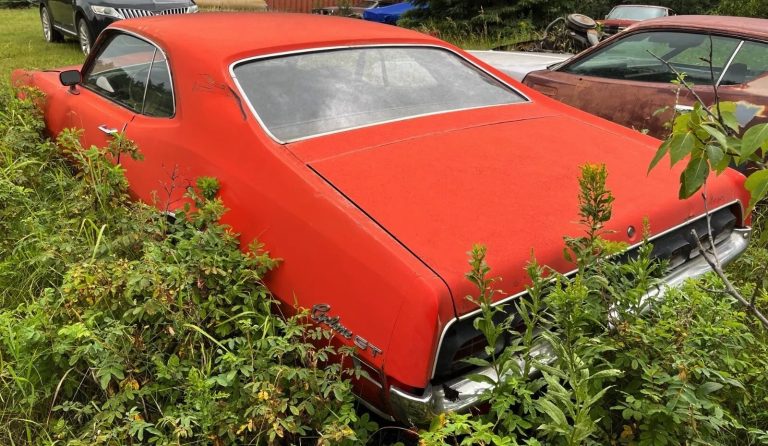
[{"label": "side window glass of the orange-red car, behind its black mirror", "polygon": [[136,113],[173,116],[168,63],[162,51],[136,37],[115,35],[83,73],[83,85]]}]

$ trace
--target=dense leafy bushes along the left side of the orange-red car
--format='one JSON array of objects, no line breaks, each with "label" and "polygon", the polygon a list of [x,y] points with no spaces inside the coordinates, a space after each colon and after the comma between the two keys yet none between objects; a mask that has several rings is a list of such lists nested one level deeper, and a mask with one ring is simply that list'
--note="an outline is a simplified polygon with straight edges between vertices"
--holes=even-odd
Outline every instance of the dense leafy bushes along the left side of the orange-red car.
[{"label": "dense leafy bushes along the left side of the orange-red car", "polygon": [[278,262],[218,223],[218,182],[169,219],[108,161],[130,141],[46,141],[26,96],[0,97],[0,442],[363,441],[349,351],[273,316]]}]

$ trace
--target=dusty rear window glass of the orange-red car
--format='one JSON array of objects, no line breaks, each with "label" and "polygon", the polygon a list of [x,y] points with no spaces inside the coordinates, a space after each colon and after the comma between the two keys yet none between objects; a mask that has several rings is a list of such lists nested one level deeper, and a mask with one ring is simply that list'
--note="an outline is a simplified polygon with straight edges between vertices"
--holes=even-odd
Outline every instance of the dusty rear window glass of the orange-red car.
[{"label": "dusty rear window glass of the orange-red car", "polygon": [[525,98],[458,55],[363,47],[242,62],[236,81],[278,140]]}]

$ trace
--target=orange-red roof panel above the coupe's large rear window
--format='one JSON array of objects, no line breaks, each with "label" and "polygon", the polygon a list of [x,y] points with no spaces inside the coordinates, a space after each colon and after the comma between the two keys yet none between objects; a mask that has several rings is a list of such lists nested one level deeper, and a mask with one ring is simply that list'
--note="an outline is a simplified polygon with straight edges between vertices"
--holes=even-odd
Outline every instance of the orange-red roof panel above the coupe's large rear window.
[{"label": "orange-red roof panel above the coupe's large rear window", "polygon": [[395,26],[313,14],[180,14],[121,20],[111,27],[138,33],[174,52],[205,55],[207,60],[366,43],[443,44]]}]

